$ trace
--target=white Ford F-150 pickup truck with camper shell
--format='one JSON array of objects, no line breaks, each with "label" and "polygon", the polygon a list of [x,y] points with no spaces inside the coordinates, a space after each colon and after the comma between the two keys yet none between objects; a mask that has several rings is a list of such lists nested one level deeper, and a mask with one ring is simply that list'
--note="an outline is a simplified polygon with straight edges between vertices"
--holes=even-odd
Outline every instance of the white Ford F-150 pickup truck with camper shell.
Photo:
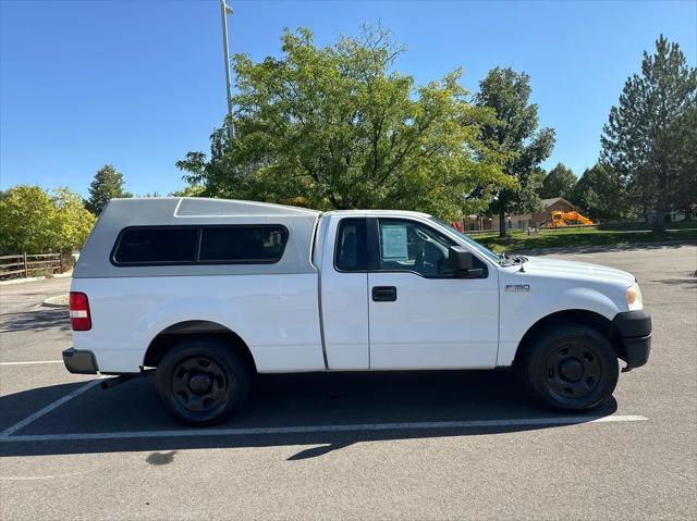
[{"label": "white Ford F-150 pickup truck with camper shell", "polygon": [[157,368],[166,409],[196,425],[274,372],[513,367],[548,405],[587,410],[651,335],[620,270],[497,256],[423,213],[199,198],[112,200],[70,317],[69,371]]}]

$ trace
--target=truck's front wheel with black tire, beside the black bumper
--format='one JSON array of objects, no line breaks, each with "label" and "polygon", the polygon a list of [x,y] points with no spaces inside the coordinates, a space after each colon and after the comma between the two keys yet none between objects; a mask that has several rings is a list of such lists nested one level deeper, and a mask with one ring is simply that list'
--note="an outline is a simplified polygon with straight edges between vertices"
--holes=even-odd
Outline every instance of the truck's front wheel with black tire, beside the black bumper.
[{"label": "truck's front wheel with black tire, beside the black bumper", "polygon": [[612,396],[620,364],[597,331],[563,324],[531,340],[516,367],[528,392],[553,409],[587,411]]}]

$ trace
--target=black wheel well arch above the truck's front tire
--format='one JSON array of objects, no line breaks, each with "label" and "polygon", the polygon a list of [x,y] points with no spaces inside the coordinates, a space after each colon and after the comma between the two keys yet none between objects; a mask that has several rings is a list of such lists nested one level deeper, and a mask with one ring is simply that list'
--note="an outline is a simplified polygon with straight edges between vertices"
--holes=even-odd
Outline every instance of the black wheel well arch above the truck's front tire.
[{"label": "black wheel well arch above the truck's front tire", "polygon": [[541,318],[523,335],[518,348],[515,351],[515,360],[513,364],[521,359],[526,349],[529,349],[533,345],[534,338],[547,328],[559,325],[560,323],[573,323],[580,324],[587,327],[591,327],[600,333],[602,336],[610,340],[612,347],[617,352],[617,357],[624,358],[624,344],[622,343],[622,335],[617,327],[611,320],[606,319],[603,315],[594,311],[587,311],[584,309],[567,309],[564,311],[558,311],[547,317]]}]

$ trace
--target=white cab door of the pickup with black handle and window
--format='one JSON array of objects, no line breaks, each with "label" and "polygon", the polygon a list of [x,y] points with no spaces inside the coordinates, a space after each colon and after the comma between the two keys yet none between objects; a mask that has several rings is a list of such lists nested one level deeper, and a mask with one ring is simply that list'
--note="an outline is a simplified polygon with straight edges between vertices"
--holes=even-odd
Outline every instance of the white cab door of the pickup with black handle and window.
[{"label": "white cab door of the pickup with black handle and window", "polygon": [[457,278],[454,240],[404,219],[369,219],[370,369],[493,368],[499,324],[498,272]]}]

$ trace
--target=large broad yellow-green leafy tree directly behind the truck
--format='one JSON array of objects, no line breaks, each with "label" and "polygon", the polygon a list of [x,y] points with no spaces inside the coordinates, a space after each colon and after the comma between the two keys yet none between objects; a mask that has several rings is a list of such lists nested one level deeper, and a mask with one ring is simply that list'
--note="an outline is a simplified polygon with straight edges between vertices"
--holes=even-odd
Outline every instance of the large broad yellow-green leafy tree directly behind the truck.
[{"label": "large broad yellow-green leafy tree directly behind the truck", "polygon": [[506,184],[499,154],[479,141],[490,111],[473,107],[460,71],[417,87],[393,70],[402,52],[364,28],[319,48],[285,32],[282,57],[235,57],[237,138],[219,129],[211,152],[178,166],[201,195],[314,208],[402,208],[442,218],[486,206],[479,184]]}]

